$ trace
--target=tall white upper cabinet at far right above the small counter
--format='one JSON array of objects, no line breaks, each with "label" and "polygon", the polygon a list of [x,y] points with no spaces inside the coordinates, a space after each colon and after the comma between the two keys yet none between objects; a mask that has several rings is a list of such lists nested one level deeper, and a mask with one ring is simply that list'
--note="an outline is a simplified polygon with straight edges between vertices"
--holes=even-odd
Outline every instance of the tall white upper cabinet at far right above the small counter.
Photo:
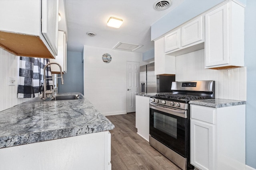
[{"label": "tall white upper cabinet at far right above the small counter", "polygon": [[228,2],[205,15],[205,68],[244,66],[244,7]]}]

